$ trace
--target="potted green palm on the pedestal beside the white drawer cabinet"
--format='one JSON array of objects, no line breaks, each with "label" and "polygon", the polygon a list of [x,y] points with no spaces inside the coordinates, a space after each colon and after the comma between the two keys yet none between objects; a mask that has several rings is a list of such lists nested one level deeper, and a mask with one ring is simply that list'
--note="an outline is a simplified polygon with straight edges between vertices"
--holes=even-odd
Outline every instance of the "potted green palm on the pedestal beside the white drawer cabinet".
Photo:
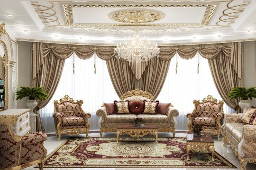
[{"label": "potted green palm on the pedestal beside the white drawer cabinet", "polygon": [[29,109],[35,109],[37,107],[37,99],[44,101],[49,97],[43,87],[20,87],[16,95],[16,100],[27,97],[26,105]]}]

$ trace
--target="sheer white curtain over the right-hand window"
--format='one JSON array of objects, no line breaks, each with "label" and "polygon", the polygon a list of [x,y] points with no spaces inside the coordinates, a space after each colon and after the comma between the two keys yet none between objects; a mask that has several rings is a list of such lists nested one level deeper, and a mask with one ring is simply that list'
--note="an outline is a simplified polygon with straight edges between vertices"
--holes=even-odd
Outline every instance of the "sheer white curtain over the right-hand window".
[{"label": "sheer white curtain over the right-hand window", "polygon": [[[199,56],[199,74],[197,74],[197,55],[192,59],[177,57],[178,69],[176,68],[176,57],[172,58],[168,75],[161,93],[157,97],[160,102],[172,102],[174,108],[179,110],[176,118],[176,129],[187,129],[187,112],[194,109],[193,100],[202,100],[209,94],[217,100],[222,100],[212,79],[208,60]],[[224,113],[233,112],[226,104]]]}]

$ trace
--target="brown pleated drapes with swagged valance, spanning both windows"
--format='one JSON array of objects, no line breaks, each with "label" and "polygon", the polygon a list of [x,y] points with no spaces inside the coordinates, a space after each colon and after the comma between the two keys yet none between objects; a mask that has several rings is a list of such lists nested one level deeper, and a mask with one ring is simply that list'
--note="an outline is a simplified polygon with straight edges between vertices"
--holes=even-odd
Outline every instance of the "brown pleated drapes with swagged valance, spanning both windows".
[{"label": "brown pleated drapes with swagged valance, spanning both windows", "polygon": [[[160,46],[159,48],[158,58],[136,66],[135,64],[129,64],[129,62],[123,59],[116,58],[113,46],[34,42],[32,52],[32,85],[44,87],[46,93],[52,96],[58,85],[65,59],[70,57],[73,52],[80,59],[89,59],[95,52],[99,58],[106,60],[111,81],[119,96],[127,91],[134,90],[138,82],[141,90],[152,93],[156,98],[165,83],[170,62],[174,55],[178,53],[183,59],[192,59],[199,52],[203,58],[209,60],[211,74],[222,99],[231,108],[238,104],[237,100],[229,101],[227,95],[233,86],[243,85],[241,42]],[[141,70],[136,72],[136,68]],[[49,101],[50,98],[43,102],[38,101],[37,110],[43,108]],[[38,130],[40,130],[39,114],[37,120]]]}]

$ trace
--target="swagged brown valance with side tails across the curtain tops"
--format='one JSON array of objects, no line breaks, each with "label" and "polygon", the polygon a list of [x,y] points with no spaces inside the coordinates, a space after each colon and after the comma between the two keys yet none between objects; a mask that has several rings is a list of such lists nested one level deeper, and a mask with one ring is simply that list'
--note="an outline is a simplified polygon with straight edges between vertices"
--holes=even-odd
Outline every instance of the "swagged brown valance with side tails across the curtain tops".
[{"label": "swagged brown valance with side tails across the curtain tops", "polygon": [[[34,49],[35,48],[35,49]],[[204,45],[184,45],[184,46],[160,46],[159,59],[170,60],[176,52],[183,59],[192,59],[197,52],[205,59],[214,59],[223,52],[225,56],[231,58],[231,64],[234,67],[238,78],[242,79],[242,55],[241,42],[220,43],[220,44],[204,44]],[[90,59],[94,52],[103,60],[110,60],[115,56],[114,46],[89,46],[89,45],[68,45],[68,44],[51,44],[36,43],[33,51],[37,50],[33,55],[32,79],[36,78],[45,57],[50,51],[59,59],[69,58],[73,52],[80,59]],[[239,51],[238,53],[236,51]],[[43,55],[37,55],[43,54]],[[140,75],[141,76],[141,75]]]}]

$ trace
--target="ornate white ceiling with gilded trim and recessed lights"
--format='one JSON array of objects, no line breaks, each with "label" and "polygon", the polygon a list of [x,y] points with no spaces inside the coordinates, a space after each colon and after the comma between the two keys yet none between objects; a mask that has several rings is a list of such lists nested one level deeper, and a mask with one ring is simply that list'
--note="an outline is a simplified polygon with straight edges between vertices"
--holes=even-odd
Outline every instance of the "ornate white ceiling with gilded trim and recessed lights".
[{"label": "ornate white ceiling with gilded trim and recessed lights", "polygon": [[13,0],[30,17],[26,34],[1,17],[15,11],[8,1],[0,20],[19,40],[116,43],[136,29],[158,43],[256,38],[256,0]]}]

